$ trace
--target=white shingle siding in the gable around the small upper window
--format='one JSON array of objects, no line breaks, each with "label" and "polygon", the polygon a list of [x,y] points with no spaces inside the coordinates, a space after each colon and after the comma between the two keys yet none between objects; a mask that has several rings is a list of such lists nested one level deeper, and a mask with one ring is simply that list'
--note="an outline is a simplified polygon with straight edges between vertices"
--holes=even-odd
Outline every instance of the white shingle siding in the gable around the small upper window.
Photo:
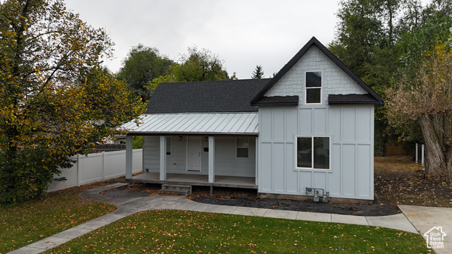
[{"label": "white shingle siding in the gable around the small upper window", "polygon": [[299,103],[304,104],[304,76],[306,71],[322,71],[323,104],[328,102],[328,95],[367,94],[362,87],[357,85],[355,80],[352,80],[319,48],[313,46],[264,96],[298,95]]}]

